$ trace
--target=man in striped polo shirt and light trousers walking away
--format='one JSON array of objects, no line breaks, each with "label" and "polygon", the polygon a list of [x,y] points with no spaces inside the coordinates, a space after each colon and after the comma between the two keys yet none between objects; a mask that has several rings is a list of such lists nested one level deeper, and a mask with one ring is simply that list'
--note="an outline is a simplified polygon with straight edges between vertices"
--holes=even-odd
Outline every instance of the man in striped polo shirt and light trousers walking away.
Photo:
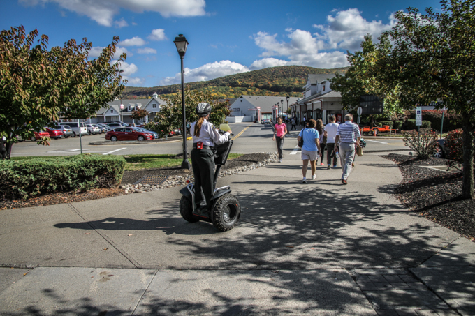
[{"label": "man in striped polo shirt and light trousers walking away", "polygon": [[342,163],[342,183],[348,184],[348,176],[351,172],[351,163],[355,158],[355,148],[360,144],[360,128],[353,121],[353,115],[346,114],[344,123],[339,124],[337,137],[335,137],[335,151],[339,147],[339,159]]}]

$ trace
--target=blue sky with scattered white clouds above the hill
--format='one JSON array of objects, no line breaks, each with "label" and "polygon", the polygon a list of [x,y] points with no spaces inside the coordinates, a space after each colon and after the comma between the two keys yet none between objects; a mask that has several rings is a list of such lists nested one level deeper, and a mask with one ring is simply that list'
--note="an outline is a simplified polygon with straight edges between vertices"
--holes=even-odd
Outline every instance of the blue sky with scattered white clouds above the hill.
[{"label": "blue sky with scattered white clouds above the hill", "polygon": [[0,0],[0,29],[24,26],[49,37],[48,47],[74,38],[93,43],[89,58],[120,42],[116,56],[128,86],[181,82],[173,40],[183,34],[184,80],[196,82],[273,66],[348,66],[360,49],[394,26],[409,7],[440,9],[439,1],[325,0]]}]

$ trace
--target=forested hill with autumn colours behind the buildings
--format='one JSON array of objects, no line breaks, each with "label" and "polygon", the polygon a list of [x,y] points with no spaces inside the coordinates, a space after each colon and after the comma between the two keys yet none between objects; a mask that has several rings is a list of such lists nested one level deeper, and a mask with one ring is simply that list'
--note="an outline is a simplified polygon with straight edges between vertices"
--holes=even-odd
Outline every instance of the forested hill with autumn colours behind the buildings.
[{"label": "forested hill with autumn colours behind the buildings", "polygon": [[[190,82],[191,90],[210,91],[216,98],[238,98],[244,95],[302,96],[309,74],[344,73],[345,68],[320,69],[304,66],[270,67],[219,77],[210,81]],[[180,84],[152,88],[126,87],[124,98],[149,98],[155,92],[170,95],[180,91]]]}]

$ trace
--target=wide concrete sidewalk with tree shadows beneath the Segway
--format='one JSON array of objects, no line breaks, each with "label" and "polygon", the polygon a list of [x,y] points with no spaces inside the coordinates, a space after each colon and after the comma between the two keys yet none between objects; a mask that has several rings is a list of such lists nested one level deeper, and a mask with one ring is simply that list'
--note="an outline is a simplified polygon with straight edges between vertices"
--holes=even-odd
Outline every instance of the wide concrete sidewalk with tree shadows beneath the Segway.
[{"label": "wide concrete sidewalk with tree shadows beneath the Segway", "polygon": [[1,211],[0,315],[475,314],[475,243],[405,209],[393,162],[305,185],[292,150],[219,179],[229,232],[184,221],[177,188]]}]

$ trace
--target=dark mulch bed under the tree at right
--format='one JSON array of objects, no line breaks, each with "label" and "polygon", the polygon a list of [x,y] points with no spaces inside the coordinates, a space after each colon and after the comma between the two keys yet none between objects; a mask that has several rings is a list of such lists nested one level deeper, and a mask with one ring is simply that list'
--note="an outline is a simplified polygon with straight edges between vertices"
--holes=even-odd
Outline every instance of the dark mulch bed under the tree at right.
[{"label": "dark mulch bed under the tree at right", "polygon": [[395,190],[397,198],[421,216],[454,232],[475,239],[475,200],[462,200],[462,173],[423,166],[445,165],[445,159],[418,159],[414,156],[384,156],[400,167],[404,179]]}]

